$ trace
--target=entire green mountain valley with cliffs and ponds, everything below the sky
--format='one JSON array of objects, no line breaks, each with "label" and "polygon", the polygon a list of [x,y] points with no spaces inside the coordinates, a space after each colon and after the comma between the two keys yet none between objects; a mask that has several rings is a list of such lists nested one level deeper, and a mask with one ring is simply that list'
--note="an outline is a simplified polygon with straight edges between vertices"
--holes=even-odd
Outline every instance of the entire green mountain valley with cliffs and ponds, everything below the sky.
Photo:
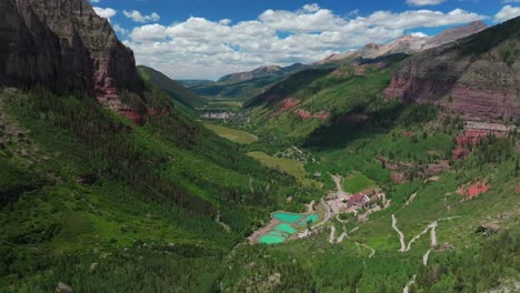
[{"label": "entire green mountain valley with cliffs and ponds, everything below the sky", "polygon": [[519,290],[520,17],[177,81],[98,14],[0,0],[0,292]]}]

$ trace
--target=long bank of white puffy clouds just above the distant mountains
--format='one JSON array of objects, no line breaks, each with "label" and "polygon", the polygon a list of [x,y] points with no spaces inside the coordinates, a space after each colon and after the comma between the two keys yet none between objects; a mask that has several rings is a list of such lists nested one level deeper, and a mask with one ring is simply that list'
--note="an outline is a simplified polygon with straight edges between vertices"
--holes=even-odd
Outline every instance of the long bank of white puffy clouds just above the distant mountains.
[{"label": "long bank of white puffy clouds just above the distant mountains", "polygon": [[456,9],[377,11],[350,19],[308,4],[297,11],[267,10],[256,20],[238,23],[191,17],[170,26],[144,24],[128,34],[126,44],[139,63],[171,77],[218,78],[264,64],[309,63],[369,42],[386,43],[409,30],[484,18]]}]

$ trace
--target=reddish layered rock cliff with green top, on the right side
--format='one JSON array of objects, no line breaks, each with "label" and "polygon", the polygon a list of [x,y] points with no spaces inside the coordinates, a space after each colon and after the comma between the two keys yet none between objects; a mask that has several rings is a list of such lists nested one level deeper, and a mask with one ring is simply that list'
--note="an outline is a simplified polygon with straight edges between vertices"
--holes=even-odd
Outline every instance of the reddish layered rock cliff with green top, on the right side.
[{"label": "reddish layered rock cliff with green top, on the right side", "polygon": [[520,18],[404,60],[384,94],[467,119],[519,119]]}]

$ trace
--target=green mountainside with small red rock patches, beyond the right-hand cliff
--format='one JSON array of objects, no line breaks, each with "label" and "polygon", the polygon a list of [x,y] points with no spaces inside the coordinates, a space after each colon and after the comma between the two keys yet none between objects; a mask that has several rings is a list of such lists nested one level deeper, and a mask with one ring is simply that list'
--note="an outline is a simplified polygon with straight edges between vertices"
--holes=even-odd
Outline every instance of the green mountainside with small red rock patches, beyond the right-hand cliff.
[{"label": "green mountainside with small red rock patches, beyond the right-hand cliff", "polygon": [[[301,143],[321,125],[366,120],[366,112],[384,103],[392,65],[404,55],[357,60],[339,69],[300,71],[246,103],[250,123],[260,137],[279,138],[286,145]],[[353,115],[344,115],[352,112]]]}]

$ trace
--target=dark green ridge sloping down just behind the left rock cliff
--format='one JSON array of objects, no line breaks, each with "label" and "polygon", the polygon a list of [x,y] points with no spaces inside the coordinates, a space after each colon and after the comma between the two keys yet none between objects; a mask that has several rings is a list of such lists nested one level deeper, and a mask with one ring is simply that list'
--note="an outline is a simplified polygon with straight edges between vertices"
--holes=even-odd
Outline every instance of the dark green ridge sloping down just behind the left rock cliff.
[{"label": "dark green ridge sloping down just behind the left rock cliff", "polygon": [[184,88],[184,85],[180,84],[179,82],[168,78],[163,73],[149,68],[139,65],[139,72],[144,81],[150,82],[154,87],[163,90],[167,92],[173,100],[178,101],[183,105],[188,105],[190,108],[201,108],[203,107],[207,101],[190,89]]}]

